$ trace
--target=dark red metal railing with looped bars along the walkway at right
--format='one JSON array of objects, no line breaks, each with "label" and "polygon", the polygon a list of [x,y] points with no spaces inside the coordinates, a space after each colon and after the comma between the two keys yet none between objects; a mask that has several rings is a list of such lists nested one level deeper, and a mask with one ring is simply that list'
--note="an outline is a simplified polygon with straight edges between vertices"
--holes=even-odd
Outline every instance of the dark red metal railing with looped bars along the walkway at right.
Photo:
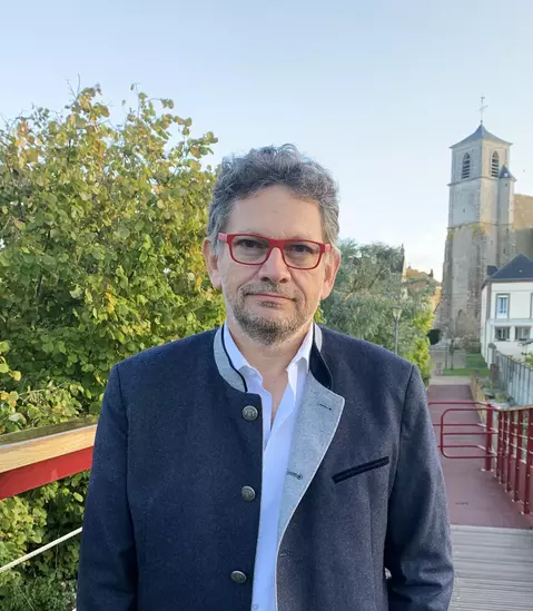
[{"label": "dark red metal railing with looped bars along the walkway at right", "polygon": [[[433,423],[435,428],[440,428],[437,438],[442,455],[446,459],[483,459],[485,471],[494,471],[494,476],[512,494],[513,501],[523,504],[523,513],[531,514],[533,407],[501,408],[476,401],[434,401],[430,405],[452,406],[443,411],[438,423]],[[448,422],[446,416],[451,413],[470,416],[475,413],[477,417],[474,422]],[[483,414],[484,422],[480,418]],[[481,436],[483,443],[454,444],[447,441],[457,436]],[[450,450],[476,453],[450,454]]]}]

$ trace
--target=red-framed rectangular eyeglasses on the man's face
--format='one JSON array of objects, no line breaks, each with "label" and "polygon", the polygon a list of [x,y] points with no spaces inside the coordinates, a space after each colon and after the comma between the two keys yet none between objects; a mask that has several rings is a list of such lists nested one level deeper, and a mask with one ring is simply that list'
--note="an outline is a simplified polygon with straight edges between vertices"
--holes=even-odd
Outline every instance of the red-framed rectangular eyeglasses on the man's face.
[{"label": "red-framed rectangular eyeglasses on the man's face", "polygon": [[330,244],[310,239],[273,239],[256,234],[218,234],[218,239],[229,246],[229,254],[243,265],[263,265],[273,248],[279,248],[287,267],[315,269]]}]

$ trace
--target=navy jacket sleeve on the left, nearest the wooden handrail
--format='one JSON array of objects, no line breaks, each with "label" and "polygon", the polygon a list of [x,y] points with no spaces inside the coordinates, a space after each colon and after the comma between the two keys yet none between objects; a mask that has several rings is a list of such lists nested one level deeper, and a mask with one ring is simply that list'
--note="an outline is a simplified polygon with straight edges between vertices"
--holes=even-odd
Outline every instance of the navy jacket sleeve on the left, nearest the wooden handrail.
[{"label": "navy jacket sleeve on the left, nearest the wooden handrail", "polygon": [[77,611],[136,611],[137,554],[127,495],[128,421],[118,366],[98,420],[78,568]]}]

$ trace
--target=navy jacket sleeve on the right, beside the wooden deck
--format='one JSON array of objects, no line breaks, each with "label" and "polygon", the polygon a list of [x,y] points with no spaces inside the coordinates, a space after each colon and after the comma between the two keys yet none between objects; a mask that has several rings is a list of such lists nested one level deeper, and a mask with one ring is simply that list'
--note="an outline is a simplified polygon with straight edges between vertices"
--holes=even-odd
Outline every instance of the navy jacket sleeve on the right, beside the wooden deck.
[{"label": "navy jacket sleeve on the right, beside the wooden deck", "polygon": [[454,571],[447,501],[424,384],[411,372],[385,542],[389,611],[447,611]]}]

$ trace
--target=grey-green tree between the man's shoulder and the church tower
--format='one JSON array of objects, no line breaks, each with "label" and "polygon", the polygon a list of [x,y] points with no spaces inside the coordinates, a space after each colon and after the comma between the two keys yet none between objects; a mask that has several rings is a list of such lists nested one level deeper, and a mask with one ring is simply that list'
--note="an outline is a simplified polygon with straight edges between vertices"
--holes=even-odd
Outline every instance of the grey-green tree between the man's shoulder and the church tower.
[{"label": "grey-green tree between the man's shoulder and the church tower", "polygon": [[427,383],[432,284],[402,278],[399,248],[344,240],[340,253],[343,259],[335,287],[322,306],[326,324],[392,351],[393,307],[401,305],[398,353],[420,367]]}]

